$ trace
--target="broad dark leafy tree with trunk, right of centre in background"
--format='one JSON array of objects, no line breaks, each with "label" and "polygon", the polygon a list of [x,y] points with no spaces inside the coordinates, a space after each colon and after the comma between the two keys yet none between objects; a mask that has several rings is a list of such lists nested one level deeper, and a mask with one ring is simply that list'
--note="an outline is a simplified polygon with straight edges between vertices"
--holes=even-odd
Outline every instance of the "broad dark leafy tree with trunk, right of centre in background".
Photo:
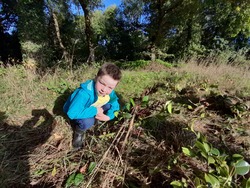
[{"label": "broad dark leafy tree with trunk, right of centre in background", "polygon": [[[151,60],[155,61],[157,53],[162,50],[171,38],[183,29],[182,23],[191,16],[188,8],[192,1],[188,0],[144,0],[147,21],[146,33],[149,37]],[[186,14],[186,17],[183,15]],[[184,20],[182,20],[184,18]]]}]

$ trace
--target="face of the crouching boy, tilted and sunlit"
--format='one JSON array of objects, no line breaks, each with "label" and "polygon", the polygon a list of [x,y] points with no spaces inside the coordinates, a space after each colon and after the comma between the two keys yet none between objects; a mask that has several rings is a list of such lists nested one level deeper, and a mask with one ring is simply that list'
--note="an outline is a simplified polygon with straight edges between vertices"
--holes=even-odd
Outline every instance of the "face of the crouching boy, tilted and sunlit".
[{"label": "face of the crouching boy, tilted and sunlit", "polygon": [[98,95],[109,95],[118,84],[118,80],[114,80],[109,75],[104,75],[96,79],[95,89]]}]

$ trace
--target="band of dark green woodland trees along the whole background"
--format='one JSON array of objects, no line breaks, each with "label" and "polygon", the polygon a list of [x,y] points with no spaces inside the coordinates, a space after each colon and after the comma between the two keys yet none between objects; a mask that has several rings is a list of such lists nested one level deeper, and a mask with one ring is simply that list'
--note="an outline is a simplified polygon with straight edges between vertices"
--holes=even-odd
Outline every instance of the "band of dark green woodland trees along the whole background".
[{"label": "band of dark green woodland trees along the whole background", "polygon": [[249,58],[247,0],[123,0],[119,7],[102,7],[100,0],[1,1],[0,60],[46,67],[177,61],[225,50]]}]

